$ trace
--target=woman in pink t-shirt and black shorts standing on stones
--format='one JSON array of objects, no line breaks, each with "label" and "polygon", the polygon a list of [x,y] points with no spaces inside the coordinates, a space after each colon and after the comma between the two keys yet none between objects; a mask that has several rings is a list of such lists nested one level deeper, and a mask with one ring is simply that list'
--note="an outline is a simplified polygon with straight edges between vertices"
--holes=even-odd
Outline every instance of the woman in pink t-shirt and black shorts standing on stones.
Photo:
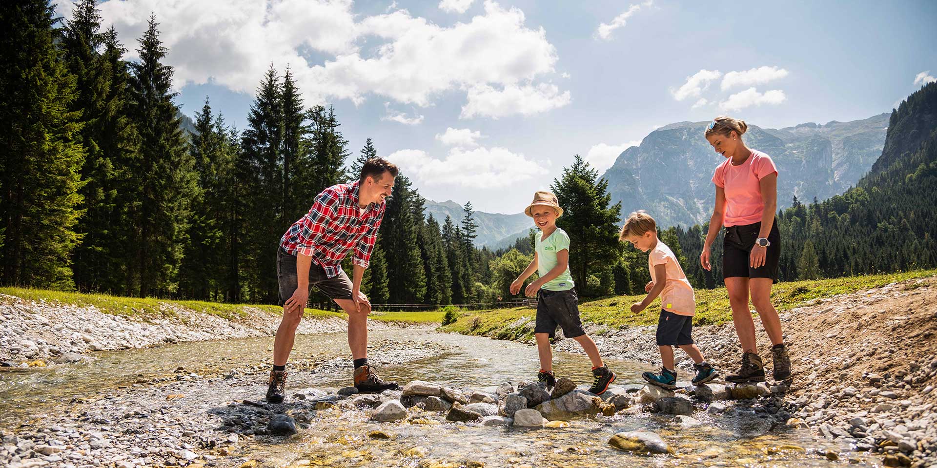
[{"label": "woman in pink t-shirt and black shorts standing on stones", "polygon": [[726,376],[725,380],[736,384],[765,381],[765,366],[758,356],[755,324],[749,312],[750,294],[773,344],[774,379],[784,380],[791,375],[781,319],[771,304],[771,285],[778,282],[781,257],[781,235],[774,217],[778,207],[778,168],[770,156],[745,145],[742,135],[747,129],[745,122],[725,116],[717,117],[706,127],[706,140],[726,159],[712,176],[716,206],[700,254],[700,263],[709,270],[709,248],[724,226],[722,277],[744,351],[738,373]]}]

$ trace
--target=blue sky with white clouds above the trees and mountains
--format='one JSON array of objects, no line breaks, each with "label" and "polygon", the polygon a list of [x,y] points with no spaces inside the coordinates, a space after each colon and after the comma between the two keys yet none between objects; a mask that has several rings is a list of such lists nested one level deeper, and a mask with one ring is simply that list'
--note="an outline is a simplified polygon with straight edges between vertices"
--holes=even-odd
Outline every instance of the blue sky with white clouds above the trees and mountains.
[{"label": "blue sky with white clouds above the trees and mountains", "polygon": [[[58,7],[69,16],[67,0]],[[930,1],[100,7],[130,50],[156,13],[186,114],[208,95],[243,129],[266,67],[289,65],[307,104],[335,106],[354,153],[371,137],[424,197],[487,212],[520,212],[573,154],[606,168],[663,124],[862,119],[937,76]]]}]

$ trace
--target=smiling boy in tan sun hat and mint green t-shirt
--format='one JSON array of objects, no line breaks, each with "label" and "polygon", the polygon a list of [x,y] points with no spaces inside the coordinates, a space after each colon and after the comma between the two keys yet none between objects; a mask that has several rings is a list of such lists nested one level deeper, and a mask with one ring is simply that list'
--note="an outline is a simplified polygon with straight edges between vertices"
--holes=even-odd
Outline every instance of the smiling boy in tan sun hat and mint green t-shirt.
[{"label": "smiling boy in tan sun hat and mint green t-shirt", "polygon": [[570,274],[569,266],[570,237],[566,235],[566,231],[557,227],[557,218],[563,215],[563,209],[559,207],[556,195],[537,192],[533,196],[533,202],[524,212],[533,218],[541,233],[535,236],[533,261],[511,284],[511,294],[517,294],[524,285],[524,280],[535,270],[540,273],[540,278],[524,290],[528,297],[537,295],[537,320],[534,327],[537,353],[540,355],[540,373],[537,373],[537,380],[548,388],[556,385],[550,338],[553,338],[557,326],[560,326],[563,328],[563,335],[582,345],[592,361],[594,380],[588,391],[601,395],[615,382],[616,375],[602,363],[599,348],[587,336],[579,318],[578,300],[573,291],[573,275]]}]

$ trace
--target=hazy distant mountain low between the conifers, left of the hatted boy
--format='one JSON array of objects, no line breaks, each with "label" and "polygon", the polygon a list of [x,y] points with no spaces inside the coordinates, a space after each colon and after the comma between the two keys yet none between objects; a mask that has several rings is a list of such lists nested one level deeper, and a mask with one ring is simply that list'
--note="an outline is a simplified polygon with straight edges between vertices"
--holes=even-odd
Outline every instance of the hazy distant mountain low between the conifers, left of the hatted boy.
[{"label": "hazy distant mountain low between the conifers, left of the hatted boy", "polygon": [[[440,225],[446,219],[446,216],[452,217],[453,223],[456,225],[461,223],[462,218],[465,216],[462,205],[453,200],[442,202],[426,200],[425,214],[426,216],[432,214]],[[513,243],[518,236],[527,235],[528,229],[533,227],[533,221],[522,212],[515,214],[475,212],[474,217],[475,224],[478,225],[476,231],[478,237],[475,238],[475,245],[478,247],[485,245],[488,248],[497,249],[508,243]]]}]

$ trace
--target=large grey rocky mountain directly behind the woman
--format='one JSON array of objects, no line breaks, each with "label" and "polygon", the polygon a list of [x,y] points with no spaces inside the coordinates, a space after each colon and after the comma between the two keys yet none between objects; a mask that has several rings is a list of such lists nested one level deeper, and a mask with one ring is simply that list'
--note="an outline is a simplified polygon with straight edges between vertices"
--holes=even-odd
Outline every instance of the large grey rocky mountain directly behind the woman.
[{"label": "large grey rocky mountain directly behind the woman", "polygon": [[[841,194],[882,154],[889,114],[853,122],[799,124],[780,129],[749,125],[746,143],[769,154],[780,171],[779,207]],[[663,227],[705,223],[712,212],[713,169],[722,161],[703,137],[708,122],[680,122],[651,132],[605,171],[612,202],[623,215],[651,212]]]}]

